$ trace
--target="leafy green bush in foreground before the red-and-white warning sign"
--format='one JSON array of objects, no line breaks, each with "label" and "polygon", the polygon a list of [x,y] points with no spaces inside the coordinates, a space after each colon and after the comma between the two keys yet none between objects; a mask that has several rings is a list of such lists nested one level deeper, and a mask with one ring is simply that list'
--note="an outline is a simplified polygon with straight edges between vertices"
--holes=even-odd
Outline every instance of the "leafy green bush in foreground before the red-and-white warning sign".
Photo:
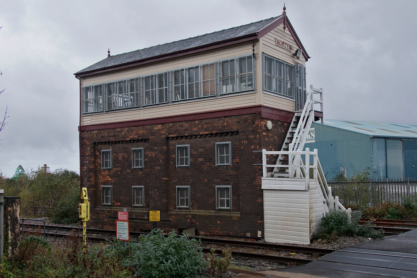
[{"label": "leafy green bush in foreground before the red-and-white warning sign", "polygon": [[[129,242],[120,254],[122,266],[133,269],[144,278],[194,278],[207,267],[202,248],[188,235],[177,236],[172,231],[167,236],[162,230],[142,235],[138,243]],[[115,246],[123,249],[120,244]]]}]

